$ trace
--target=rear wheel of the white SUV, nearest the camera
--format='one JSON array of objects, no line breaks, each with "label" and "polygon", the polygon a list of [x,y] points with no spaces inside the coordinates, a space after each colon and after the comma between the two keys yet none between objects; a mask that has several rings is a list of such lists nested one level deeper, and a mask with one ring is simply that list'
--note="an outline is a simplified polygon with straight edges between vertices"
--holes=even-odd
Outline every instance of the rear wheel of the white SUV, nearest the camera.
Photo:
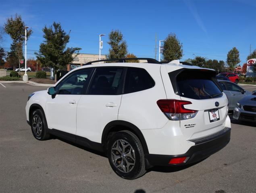
[{"label": "rear wheel of the white SUV, nearest the camera", "polygon": [[119,131],[109,139],[108,160],[114,172],[124,179],[136,179],[146,172],[142,144],[131,131]]}]

